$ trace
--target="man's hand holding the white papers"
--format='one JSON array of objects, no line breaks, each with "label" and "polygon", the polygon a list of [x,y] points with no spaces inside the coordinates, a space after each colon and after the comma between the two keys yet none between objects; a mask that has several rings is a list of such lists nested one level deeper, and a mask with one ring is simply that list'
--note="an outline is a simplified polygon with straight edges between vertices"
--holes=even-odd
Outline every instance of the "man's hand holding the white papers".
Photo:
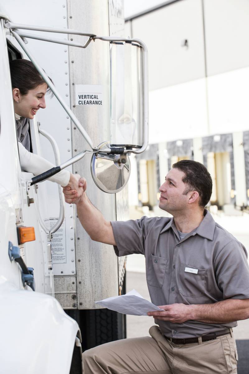
[{"label": "man's hand holding the white papers", "polygon": [[191,310],[189,305],[171,304],[159,306],[164,312],[148,312],[148,316],[153,316],[161,321],[169,321],[175,324],[182,324],[191,319]]}]

